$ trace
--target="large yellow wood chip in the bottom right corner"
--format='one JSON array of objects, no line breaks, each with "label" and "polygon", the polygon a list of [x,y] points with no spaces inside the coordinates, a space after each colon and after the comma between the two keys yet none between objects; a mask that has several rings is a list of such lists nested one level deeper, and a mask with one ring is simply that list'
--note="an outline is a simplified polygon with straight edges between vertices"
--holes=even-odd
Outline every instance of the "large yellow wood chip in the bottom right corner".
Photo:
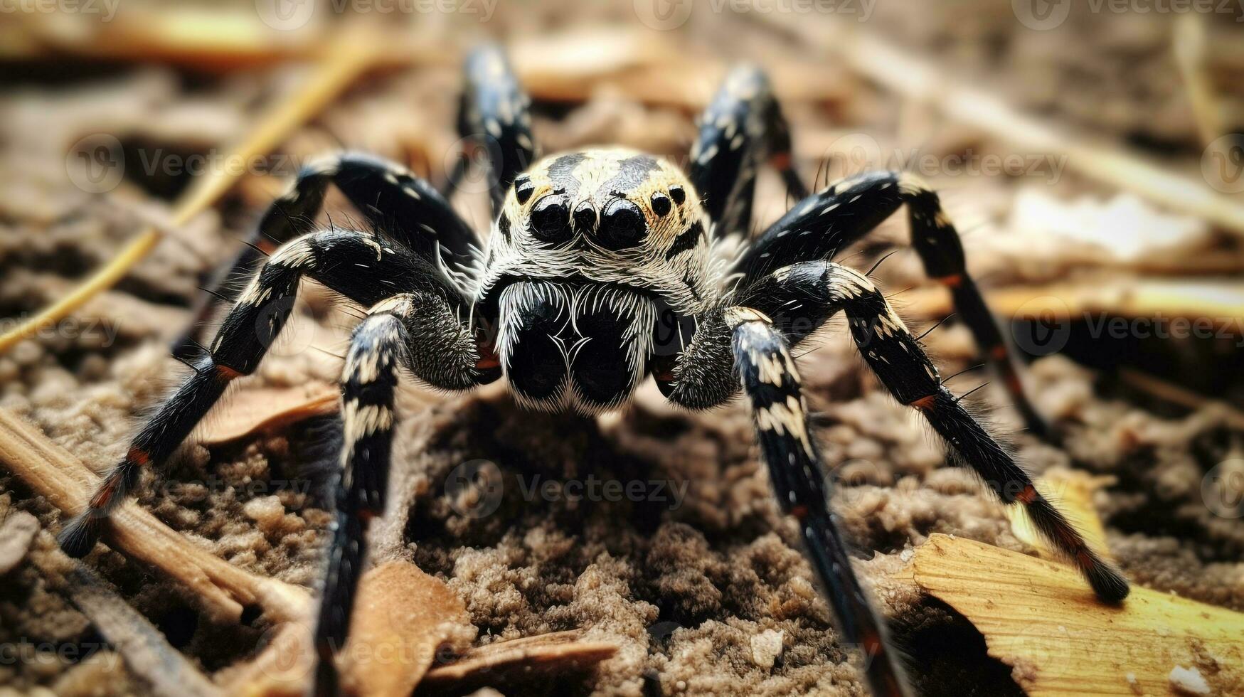
[{"label": "large yellow wood chip in the bottom right corner", "polygon": [[912,578],[965,616],[989,655],[1030,696],[1169,695],[1173,668],[1197,668],[1214,695],[1244,692],[1244,614],[1133,587],[1096,600],[1069,566],[935,534]]}]

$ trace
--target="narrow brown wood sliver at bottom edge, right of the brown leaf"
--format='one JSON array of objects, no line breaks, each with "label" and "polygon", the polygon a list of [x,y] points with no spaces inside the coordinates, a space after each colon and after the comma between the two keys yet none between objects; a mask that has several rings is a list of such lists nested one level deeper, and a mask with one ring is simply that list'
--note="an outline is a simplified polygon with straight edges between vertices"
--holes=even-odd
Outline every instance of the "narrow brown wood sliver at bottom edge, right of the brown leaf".
[{"label": "narrow brown wood sliver at bottom edge, right of the brown leaf", "polygon": [[498,641],[471,648],[458,661],[428,671],[423,685],[465,690],[565,676],[588,671],[617,651],[613,643],[582,641],[578,630]]}]

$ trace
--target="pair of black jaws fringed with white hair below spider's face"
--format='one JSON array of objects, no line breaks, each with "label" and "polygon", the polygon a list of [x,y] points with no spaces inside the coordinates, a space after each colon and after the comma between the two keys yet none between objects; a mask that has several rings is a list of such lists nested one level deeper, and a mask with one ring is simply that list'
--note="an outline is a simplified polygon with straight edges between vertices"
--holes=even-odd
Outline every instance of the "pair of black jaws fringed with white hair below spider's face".
[{"label": "pair of black jaws fringed with white hair below spider's face", "polygon": [[647,375],[656,322],[656,304],[631,289],[515,283],[500,300],[501,370],[534,408],[617,407]]}]

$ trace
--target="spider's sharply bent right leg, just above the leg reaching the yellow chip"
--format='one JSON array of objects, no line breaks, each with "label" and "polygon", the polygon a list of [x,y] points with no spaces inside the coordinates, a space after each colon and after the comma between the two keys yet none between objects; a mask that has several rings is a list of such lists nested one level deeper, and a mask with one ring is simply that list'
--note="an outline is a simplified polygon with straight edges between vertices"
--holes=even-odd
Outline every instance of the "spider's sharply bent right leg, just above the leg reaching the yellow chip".
[{"label": "spider's sharply bent right leg, just above the leg reaching the yellow chip", "polygon": [[810,195],[766,229],[745,250],[733,271],[739,288],[769,271],[827,259],[861,239],[907,204],[912,246],[929,278],[950,290],[954,307],[972,331],[978,350],[998,375],[1029,431],[1049,437],[1050,428],[1029,400],[1006,341],[980,289],[968,275],[963,243],[942,209],[938,194],[919,177],[872,172],[836,182]]}]

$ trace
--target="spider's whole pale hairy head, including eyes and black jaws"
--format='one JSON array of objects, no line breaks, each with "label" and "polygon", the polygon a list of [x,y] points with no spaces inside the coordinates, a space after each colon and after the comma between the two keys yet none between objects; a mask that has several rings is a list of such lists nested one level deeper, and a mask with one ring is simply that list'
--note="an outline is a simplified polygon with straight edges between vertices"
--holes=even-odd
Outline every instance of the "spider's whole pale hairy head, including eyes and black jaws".
[{"label": "spider's whole pale hairy head, including eyes and black jaws", "polygon": [[623,148],[547,157],[520,174],[488,241],[478,299],[522,403],[623,403],[678,317],[714,295],[708,219],[671,163]]}]

